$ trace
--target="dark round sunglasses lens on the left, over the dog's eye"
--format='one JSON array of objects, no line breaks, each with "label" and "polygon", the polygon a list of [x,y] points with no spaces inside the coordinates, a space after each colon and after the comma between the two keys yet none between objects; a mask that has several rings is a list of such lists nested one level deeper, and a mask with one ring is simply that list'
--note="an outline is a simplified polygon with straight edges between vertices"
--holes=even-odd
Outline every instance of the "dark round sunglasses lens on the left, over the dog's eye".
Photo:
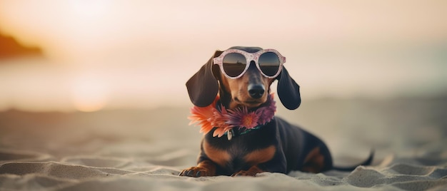
[{"label": "dark round sunglasses lens on the left, over the dog's eye", "polygon": [[228,53],[223,63],[226,75],[231,77],[239,76],[247,65],[245,56],[240,53]]}]

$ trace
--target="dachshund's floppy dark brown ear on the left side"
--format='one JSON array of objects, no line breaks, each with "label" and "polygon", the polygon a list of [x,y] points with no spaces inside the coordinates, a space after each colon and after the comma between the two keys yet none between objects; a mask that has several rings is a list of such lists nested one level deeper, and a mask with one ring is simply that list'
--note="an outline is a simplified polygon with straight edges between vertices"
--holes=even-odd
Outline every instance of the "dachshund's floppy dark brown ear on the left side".
[{"label": "dachshund's floppy dark brown ear on the left side", "polygon": [[204,66],[186,82],[191,102],[199,107],[205,107],[213,103],[219,91],[216,76],[213,73],[213,58],[220,56],[221,51],[216,51]]}]

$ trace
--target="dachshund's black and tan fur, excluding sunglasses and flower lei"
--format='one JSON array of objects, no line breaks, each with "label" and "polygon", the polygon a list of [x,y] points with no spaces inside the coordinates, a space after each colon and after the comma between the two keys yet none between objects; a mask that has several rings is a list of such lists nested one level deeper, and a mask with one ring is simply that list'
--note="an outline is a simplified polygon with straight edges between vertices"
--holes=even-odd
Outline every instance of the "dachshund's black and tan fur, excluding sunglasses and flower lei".
[{"label": "dachshund's black and tan fur, excluding sunglasses and flower lei", "polygon": [[[250,53],[261,50],[258,47],[232,48]],[[286,108],[294,110],[301,104],[299,86],[288,75],[286,68],[282,68],[278,77],[266,78],[252,61],[241,78],[229,79],[221,73],[219,66],[212,63],[212,59],[221,53],[216,51],[208,63],[186,83],[194,105],[210,105],[219,93],[220,103],[225,108],[247,106],[256,110],[266,103],[274,80],[278,80],[277,93]],[[260,172],[323,172],[337,169],[333,167],[331,153],[322,140],[277,116],[258,130],[243,134],[238,128],[233,128],[233,131],[235,136],[231,140],[226,136],[213,137],[214,130],[204,135],[197,165],[183,170],[180,175],[255,176]],[[373,153],[361,165],[369,165],[372,158]],[[338,169],[352,170],[353,167]]]}]

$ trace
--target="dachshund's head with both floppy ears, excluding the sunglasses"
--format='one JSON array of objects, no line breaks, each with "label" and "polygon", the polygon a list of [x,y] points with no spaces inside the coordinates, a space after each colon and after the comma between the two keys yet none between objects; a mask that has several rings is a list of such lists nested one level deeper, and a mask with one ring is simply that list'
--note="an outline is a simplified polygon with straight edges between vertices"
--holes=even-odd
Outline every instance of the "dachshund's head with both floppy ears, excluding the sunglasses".
[{"label": "dachshund's head with both floppy ears, excluding the sunglasses", "polygon": [[[236,46],[230,49],[238,49],[248,53],[256,53],[262,48]],[[281,73],[276,78],[267,78],[258,71],[254,61],[251,61],[248,69],[240,78],[227,78],[218,65],[213,64],[213,58],[221,55],[223,51],[216,51],[201,69],[186,82],[189,98],[194,105],[205,107],[213,103],[217,93],[221,97],[221,103],[226,108],[247,106],[256,108],[265,103],[270,93],[270,86],[274,80],[278,80],[277,93],[281,103],[289,110],[298,108],[301,96],[298,84],[288,75],[286,68],[282,67]]]}]

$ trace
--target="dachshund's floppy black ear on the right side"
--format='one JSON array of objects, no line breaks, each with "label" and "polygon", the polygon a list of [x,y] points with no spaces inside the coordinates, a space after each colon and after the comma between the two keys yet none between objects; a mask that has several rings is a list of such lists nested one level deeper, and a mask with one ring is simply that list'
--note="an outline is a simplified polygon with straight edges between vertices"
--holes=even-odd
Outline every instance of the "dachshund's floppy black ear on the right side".
[{"label": "dachshund's floppy black ear on the right side", "polygon": [[278,79],[278,97],[284,107],[294,110],[301,104],[300,86],[288,75],[286,68],[282,68]]}]

